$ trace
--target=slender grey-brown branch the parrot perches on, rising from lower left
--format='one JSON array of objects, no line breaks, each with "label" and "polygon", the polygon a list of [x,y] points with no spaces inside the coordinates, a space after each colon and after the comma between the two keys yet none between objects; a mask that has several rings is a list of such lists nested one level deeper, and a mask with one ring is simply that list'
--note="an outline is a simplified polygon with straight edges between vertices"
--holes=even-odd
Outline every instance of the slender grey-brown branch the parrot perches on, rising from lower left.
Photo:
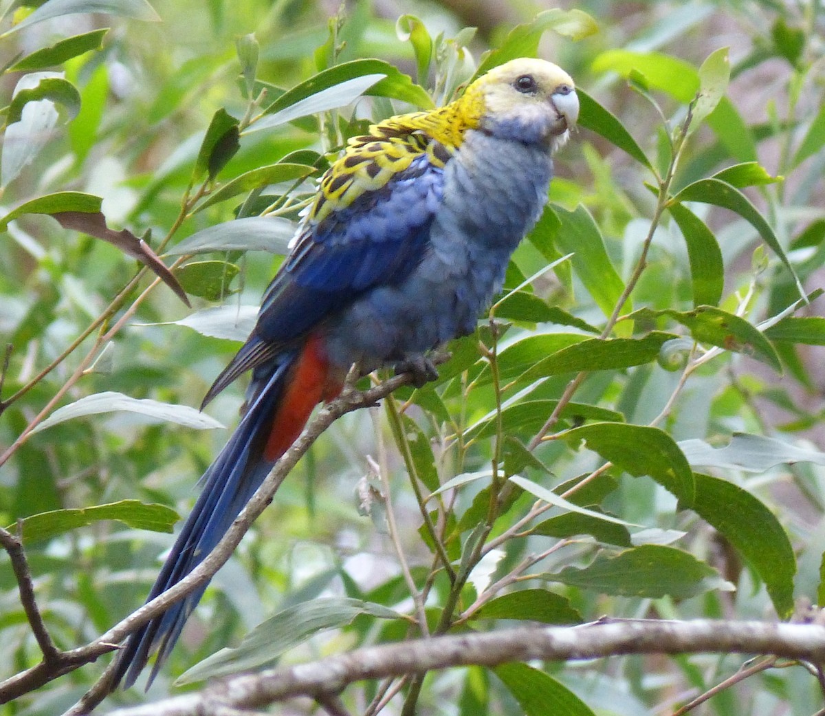
[{"label": "slender grey-brown branch the parrot perches on, rising from lower left", "polygon": [[[446,357],[441,360],[446,360]],[[115,650],[118,643],[122,642],[135,629],[139,629],[150,619],[163,614],[172,604],[191,594],[199,586],[209,582],[214,573],[223,567],[224,563],[232,556],[252,522],[272,502],[276,490],[281,486],[286,475],[290,473],[290,470],[295,467],[298,460],[309,450],[310,445],[323,431],[327,430],[337,418],[347,412],[357,410],[359,407],[375,405],[381,399],[386,398],[389,393],[392,393],[401,385],[412,382],[412,380],[413,376],[411,374],[396,375],[363,392],[345,391],[341,398],[337,398],[332,403],[324,406],[290,450],[287,450],[285,455],[278,461],[275,469],[264,480],[252,499],[247,502],[247,506],[243,508],[243,511],[233,522],[232,527],[224,535],[224,539],[221,539],[210,555],[192,570],[185,579],[143,605],[120,623],[115,624],[106,634],[102,634],[92,643],[68,652],[57,652],[53,659],[44,660],[37,666],[21,671],[19,674],[0,683],[0,704],[5,704],[9,700],[40,688],[40,686],[49,683],[58,676],[73,671],[84,664],[94,662],[102,654]]]}]

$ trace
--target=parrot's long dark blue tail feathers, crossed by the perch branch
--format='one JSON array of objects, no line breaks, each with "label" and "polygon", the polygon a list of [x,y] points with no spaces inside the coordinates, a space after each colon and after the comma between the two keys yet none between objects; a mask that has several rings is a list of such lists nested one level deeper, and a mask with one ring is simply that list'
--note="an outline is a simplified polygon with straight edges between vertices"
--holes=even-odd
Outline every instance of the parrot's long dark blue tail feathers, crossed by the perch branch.
[{"label": "parrot's long dark blue tail feathers, crossed by the perch branch", "polygon": [[[266,440],[281,403],[288,371],[297,355],[290,353],[280,357],[282,360],[273,366],[268,375],[256,374],[253,379],[247,392],[247,411],[229,442],[201,478],[203,490],[200,497],[163,564],[147,601],[176,585],[204,560],[275,464],[275,459],[264,456]],[[158,651],[148,679],[148,683],[152,683],[205,589],[206,585],[200,587],[130,636],[117,657],[112,689],[120,681],[123,681],[124,688],[134,684],[149,656]]]}]

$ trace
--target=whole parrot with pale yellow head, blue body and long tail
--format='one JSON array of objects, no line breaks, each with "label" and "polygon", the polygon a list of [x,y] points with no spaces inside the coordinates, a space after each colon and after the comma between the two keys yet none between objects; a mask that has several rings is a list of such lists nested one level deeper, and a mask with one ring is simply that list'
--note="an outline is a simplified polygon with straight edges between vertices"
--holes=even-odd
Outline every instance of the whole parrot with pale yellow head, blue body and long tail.
[{"label": "whole parrot with pale yellow head, blue body and long tail", "polygon": [[[362,375],[410,372],[419,387],[437,377],[431,351],[474,332],[501,290],[512,253],[544,210],[554,151],[578,111],[568,73],[520,58],[445,106],[349,139],[319,181],[247,342],[205,395],[203,406],[252,371],[238,427],[201,478],[147,601],[214,549],[352,366]],[[133,685],[157,652],[152,683],[204,591],[130,634],[112,689]]]}]

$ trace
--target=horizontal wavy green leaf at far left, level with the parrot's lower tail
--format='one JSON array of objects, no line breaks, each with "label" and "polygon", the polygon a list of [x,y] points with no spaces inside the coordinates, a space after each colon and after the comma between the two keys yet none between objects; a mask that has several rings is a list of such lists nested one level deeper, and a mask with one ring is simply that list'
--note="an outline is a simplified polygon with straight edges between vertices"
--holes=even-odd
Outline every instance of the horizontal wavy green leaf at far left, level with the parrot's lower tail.
[{"label": "horizontal wavy green leaf at far left, level with the parrot's lower tail", "polygon": [[[123,522],[135,530],[172,532],[172,525],[180,519],[176,511],[165,505],[149,505],[139,500],[121,500],[109,505],[85,507],[82,510],[54,510],[26,517],[22,521],[22,534],[25,542],[36,542],[103,520]],[[14,532],[16,525],[7,529]]]}]

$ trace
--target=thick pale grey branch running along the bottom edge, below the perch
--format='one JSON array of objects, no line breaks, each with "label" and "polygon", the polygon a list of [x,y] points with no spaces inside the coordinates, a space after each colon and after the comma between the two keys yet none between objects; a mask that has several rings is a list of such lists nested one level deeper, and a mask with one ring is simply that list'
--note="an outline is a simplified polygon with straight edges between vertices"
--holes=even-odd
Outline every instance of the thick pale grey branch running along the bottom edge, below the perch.
[{"label": "thick pale grey branch running along the bottom edge, below the perch", "polygon": [[634,619],[434,637],[361,648],[318,662],[237,676],[199,693],[120,709],[111,716],[216,716],[226,706],[250,709],[301,695],[319,699],[340,693],[355,681],[447,667],[694,652],[775,654],[821,662],[825,659],[825,627]]}]

